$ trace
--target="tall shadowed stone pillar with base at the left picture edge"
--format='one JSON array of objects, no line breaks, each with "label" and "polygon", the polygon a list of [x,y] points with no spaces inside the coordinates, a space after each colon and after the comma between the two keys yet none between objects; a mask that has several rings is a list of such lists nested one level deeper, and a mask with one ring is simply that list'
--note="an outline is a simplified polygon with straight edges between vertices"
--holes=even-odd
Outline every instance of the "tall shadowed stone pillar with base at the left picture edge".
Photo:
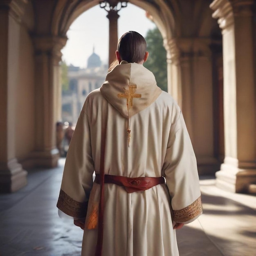
[{"label": "tall shadowed stone pillar with base at the left picture edge", "polygon": [[23,14],[18,4],[0,2],[0,192],[13,192],[27,184],[27,171],[15,157],[16,58],[19,56],[19,21]]}]

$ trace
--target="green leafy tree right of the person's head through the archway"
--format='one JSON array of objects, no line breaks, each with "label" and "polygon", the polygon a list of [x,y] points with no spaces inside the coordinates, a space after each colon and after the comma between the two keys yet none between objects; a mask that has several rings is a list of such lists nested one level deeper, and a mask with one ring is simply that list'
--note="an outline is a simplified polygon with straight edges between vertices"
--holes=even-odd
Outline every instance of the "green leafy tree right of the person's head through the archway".
[{"label": "green leafy tree right of the person's head through the archway", "polygon": [[148,60],[144,67],[153,72],[157,85],[167,92],[167,63],[166,50],[163,46],[163,38],[157,27],[148,30],[146,34]]}]

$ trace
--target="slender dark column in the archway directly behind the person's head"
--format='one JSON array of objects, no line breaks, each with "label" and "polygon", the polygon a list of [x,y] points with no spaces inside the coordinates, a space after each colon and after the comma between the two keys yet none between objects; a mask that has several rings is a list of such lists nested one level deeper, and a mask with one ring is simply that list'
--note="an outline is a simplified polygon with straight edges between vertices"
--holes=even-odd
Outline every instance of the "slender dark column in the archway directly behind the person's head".
[{"label": "slender dark column in the archway directly behind the person's head", "polygon": [[115,61],[116,59],[116,50],[118,42],[118,29],[117,29],[117,20],[119,15],[117,10],[110,9],[108,11],[107,18],[109,19],[109,46],[108,46],[108,65]]}]

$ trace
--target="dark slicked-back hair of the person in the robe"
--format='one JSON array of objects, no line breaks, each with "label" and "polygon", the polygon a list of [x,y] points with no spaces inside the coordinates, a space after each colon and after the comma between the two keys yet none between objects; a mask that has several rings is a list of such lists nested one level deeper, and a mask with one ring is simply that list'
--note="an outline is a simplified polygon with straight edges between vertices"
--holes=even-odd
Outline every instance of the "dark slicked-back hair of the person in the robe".
[{"label": "dark slicked-back hair of the person in the robe", "polygon": [[135,31],[128,31],[118,41],[117,51],[122,61],[139,63],[144,60],[146,53],[146,40]]}]

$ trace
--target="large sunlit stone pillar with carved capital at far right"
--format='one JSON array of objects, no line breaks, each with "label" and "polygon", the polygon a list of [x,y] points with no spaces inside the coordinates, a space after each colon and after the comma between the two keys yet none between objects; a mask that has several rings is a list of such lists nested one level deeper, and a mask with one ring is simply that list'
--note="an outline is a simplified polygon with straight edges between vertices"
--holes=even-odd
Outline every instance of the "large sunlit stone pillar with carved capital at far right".
[{"label": "large sunlit stone pillar with carved capital at far right", "polygon": [[245,193],[256,184],[253,2],[215,0],[210,5],[223,35],[225,159],[216,185]]}]

